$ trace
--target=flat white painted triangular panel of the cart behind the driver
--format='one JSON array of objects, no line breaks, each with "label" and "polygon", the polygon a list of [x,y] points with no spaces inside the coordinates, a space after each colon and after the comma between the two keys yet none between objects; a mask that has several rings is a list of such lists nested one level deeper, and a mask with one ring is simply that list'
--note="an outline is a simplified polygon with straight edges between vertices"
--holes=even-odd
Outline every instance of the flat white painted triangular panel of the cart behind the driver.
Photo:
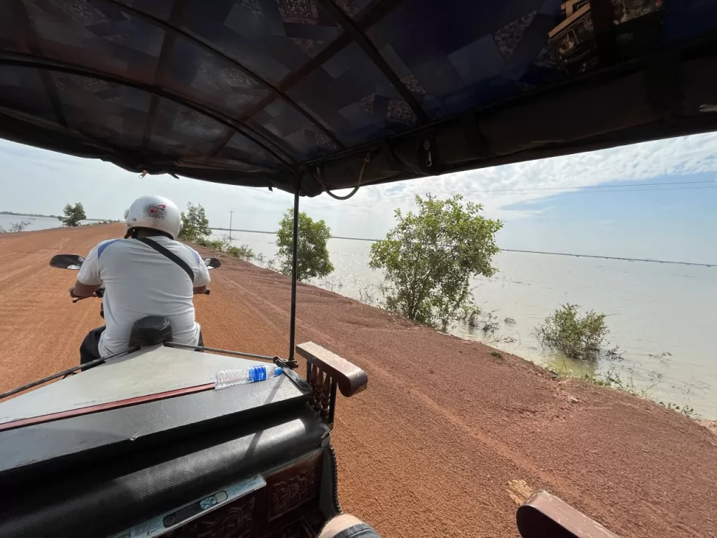
[{"label": "flat white painted triangular panel of the cart behind the driver", "polygon": [[0,424],[213,383],[224,369],[266,364],[153,346],[0,403]]}]

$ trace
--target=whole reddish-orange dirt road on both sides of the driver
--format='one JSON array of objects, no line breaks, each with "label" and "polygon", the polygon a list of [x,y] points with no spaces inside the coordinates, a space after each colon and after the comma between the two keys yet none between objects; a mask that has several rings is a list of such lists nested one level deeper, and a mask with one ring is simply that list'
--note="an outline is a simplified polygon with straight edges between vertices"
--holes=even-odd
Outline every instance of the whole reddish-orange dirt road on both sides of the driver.
[{"label": "whole reddish-orange dirt road on both sides of the driver", "polygon": [[[0,391],[77,364],[99,303],[73,304],[76,273],[49,258],[120,234],[0,235]],[[285,356],[289,280],[222,261],[196,299],[206,344]],[[717,436],[693,420],[308,285],[297,335],[369,373],[338,401],[333,437],[343,509],[384,537],[515,537],[533,489],[623,537],[717,536]]]}]

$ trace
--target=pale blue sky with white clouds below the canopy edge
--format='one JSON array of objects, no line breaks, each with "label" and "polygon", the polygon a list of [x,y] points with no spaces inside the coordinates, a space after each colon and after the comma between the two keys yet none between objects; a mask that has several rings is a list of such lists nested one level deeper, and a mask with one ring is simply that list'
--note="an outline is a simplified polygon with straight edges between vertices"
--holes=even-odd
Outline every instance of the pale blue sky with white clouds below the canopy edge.
[{"label": "pale blue sky with white clouds below the canopy edge", "polygon": [[[333,235],[384,237],[394,209],[431,193],[483,204],[504,227],[498,246],[514,250],[717,264],[717,134],[671,138],[490,169],[361,187],[345,202],[321,194],[301,209]],[[658,184],[658,185],[655,185]],[[346,194],[341,191],[337,194]],[[143,194],[206,209],[210,226],[276,230],[290,194],[138,174],[0,141],[0,211],[60,214],[82,202],[87,217],[120,219]]]}]

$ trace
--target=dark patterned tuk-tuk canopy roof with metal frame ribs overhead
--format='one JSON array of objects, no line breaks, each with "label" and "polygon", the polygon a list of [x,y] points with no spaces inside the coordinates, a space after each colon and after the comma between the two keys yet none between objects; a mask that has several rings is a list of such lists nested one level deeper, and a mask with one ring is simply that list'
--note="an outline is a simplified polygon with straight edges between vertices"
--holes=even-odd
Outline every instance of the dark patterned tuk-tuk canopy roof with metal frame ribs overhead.
[{"label": "dark patterned tuk-tuk canopy roof with metal frame ribs overhead", "polygon": [[4,0],[0,136],[315,196],[717,130],[717,0]]}]

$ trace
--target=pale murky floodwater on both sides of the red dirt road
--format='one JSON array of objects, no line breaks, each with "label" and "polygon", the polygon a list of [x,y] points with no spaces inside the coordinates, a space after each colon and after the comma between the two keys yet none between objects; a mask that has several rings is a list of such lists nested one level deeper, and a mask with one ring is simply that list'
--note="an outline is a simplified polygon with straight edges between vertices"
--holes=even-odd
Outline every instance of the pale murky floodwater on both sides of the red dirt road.
[{"label": "pale murky floodwater on both sides of the red dirt road", "polygon": [[[0,215],[0,227],[30,218]],[[34,217],[28,230],[58,226],[58,220]],[[263,265],[276,254],[274,235],[233,237],[261,254]],[[328,247],[336,271],[314,284],[379,304],[382,275],[368,267],[371,242],[332,239]],[[511,252],[498,254],[493,265],[498,273],[476,279],[473,295],[482,321],[495,321],[497,330],[485,334],[458,324],[452,334],[557,372],[611,372],[648,390],[653,400],[690,405],[701,417],[717,418],[717,268]],[[532,329],[565,303],[607,313],[607,341],[618,346],[619,358],[585,364],[541,349]]]}]

